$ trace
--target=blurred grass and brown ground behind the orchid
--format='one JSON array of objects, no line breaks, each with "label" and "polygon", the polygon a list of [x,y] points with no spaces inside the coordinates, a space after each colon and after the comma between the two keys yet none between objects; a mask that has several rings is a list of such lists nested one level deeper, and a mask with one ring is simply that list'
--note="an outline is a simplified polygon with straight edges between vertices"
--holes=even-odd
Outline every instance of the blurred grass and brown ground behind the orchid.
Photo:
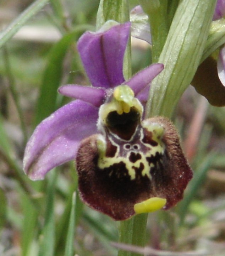
[{"label": "blurred grass and brown ground behind the orchid", "polygon": [[[0,31],[33,2],[2,0]],[[136,0],[129,2],[131,9],[138,5]],[[35,126],[70,100],[58,95],[57,88],[89,84],[76,41],[84,31],[95,30],[98,4],[99,0],[49,1],[0,48],[0,255],[116,255],[111,241],[117,241],[117,223],[73,195],[73,162],[38,182],[30,181],[22,169],[24,147]],[[0,34],[0,44],[1,40]],[[150,64],[150,56],[146,43],[132,40],[133,73]],[[190,86],[174,122],[194,178],[175,208],[149,215],[147,245],[222,256],[225,108],[210,106]]]}]

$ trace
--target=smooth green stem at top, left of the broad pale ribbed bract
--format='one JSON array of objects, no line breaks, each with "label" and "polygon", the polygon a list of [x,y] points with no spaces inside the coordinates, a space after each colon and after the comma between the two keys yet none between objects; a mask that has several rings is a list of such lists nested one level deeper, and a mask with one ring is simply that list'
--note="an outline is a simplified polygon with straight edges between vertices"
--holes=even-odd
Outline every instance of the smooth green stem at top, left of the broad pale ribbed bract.
[{"label": "smooth green stem at top, left of the broad pale ribbed bract", "polygon": [[158,62],[168,34],[167,0],[140,0],[148,14],[152,36],[152,62]]}]

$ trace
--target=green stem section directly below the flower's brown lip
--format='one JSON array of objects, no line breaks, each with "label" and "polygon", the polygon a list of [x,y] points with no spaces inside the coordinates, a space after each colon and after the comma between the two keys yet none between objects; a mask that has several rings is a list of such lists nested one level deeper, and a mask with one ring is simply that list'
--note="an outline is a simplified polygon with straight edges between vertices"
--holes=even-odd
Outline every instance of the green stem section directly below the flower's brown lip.
[{"label": "green stem section directly below the flower's brown lip", "polygon": [[[148,214],[139,214],[119,222],[119,242],[144,247],[146,244],[146,224]],[[120,250],[118,256],[140,256],[131,251]]]}]

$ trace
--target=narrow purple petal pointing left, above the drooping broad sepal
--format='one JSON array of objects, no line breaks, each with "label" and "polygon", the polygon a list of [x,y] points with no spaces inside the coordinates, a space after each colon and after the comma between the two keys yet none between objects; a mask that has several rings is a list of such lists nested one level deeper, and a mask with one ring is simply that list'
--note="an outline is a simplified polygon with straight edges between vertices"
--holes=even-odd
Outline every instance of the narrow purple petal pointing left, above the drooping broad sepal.
[{"label": "narrow purple petal pointing left, above the drooping broad sepal", "polygon": [[66,84],[61,86],[58,91],[62,95],[83,100],[94,105],[95,107],[99,107],[101,104],[103,104],[105,99],[105,90],[96,87]]}]

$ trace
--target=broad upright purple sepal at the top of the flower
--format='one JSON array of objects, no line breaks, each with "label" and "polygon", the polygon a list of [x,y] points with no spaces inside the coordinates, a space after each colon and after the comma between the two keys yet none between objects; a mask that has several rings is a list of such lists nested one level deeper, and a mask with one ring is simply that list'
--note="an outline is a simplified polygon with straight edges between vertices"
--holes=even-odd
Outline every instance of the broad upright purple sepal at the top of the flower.
[{"label": "broad upright purple sepal at the top of the flower", "polygon": [[104,32],[86,32],[77,43],[78,51],[94,87],[110,88],[124,82],[123,60],[130,34],[130,22]]}]

